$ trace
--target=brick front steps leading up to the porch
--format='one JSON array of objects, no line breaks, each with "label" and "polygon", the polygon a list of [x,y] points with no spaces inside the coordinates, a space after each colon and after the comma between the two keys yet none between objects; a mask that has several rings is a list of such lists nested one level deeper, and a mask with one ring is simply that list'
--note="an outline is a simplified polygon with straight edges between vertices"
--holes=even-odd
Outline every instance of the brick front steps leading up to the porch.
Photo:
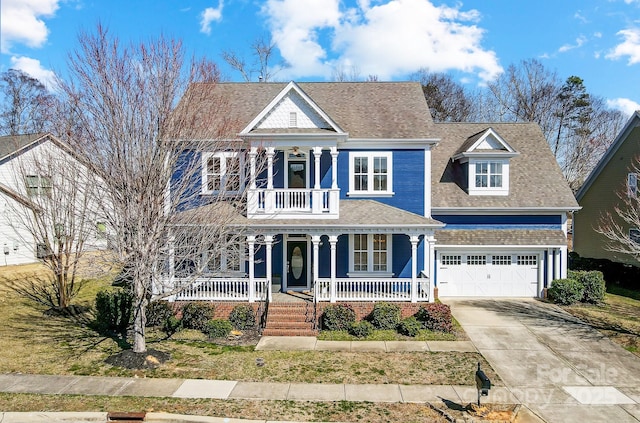
[{"label": "brick front steps leading up to the porch", "polygon": [[262,336],[316,336],[313,303],[270,303]]}]

